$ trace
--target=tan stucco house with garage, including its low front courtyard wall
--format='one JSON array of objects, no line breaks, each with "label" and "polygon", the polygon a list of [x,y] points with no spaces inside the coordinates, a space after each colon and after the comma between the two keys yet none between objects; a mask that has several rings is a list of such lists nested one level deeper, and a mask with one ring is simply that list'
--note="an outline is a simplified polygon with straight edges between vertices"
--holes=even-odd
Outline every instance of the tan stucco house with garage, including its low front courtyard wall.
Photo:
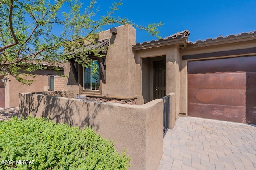
[{"label": "tan stucco house with garage, including its low front courtyard wall", "polygon": [[67,62],[64,91],[20,94],[20,117],[92,125],[119,152],[127,148],[131,170],[157,169],[166,108],[170,129],[178,116],[256,124],[256,31],[196,42],[189,35],[136,43],[131,25],[103,31],[86,48],[106,47],[105,57],[91,54],[87,68]]}]

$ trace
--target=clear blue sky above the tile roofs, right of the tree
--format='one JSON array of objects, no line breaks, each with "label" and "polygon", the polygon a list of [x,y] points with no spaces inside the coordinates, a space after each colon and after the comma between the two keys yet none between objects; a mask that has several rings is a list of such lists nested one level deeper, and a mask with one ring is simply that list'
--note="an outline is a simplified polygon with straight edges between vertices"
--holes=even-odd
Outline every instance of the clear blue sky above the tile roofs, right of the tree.
[{"label": "clear blue sky above the tile roofs, right of the tree", "polygon": [[[112,2],[98,0],[100,12]],[[163,38],[185,29],[190,31],[192,42],[256,30],[256,0],[122,0],[122,3],[116,16],[139,25],[162,21],[165,24],[160,28],[160,36]],[[137,30],[138,43],[151,39],[157,38]]]}]

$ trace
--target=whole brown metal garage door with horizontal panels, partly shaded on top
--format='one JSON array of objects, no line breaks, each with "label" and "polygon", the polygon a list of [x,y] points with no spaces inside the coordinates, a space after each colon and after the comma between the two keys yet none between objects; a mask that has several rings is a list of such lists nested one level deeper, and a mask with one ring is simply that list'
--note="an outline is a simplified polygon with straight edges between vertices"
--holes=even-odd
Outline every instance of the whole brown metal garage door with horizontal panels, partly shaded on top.
[{"label": "whole brown metal garage door with horizontal panels, partly shaded on top", "polygon": [[189,61],[188,115],[256,124],[256,56]]}]

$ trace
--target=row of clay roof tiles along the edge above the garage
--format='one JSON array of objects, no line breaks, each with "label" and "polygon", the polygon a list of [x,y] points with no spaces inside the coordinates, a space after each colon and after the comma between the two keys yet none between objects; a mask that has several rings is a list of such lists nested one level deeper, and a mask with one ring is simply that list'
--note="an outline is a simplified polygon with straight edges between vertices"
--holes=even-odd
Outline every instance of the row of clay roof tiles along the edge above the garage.
[{"label": "row of clay roof tiles along the edge above the garage", "polygon": [[208,38],[204,41],[202,40],[197,40],[196,42],[190,42],[192,44],[199,44],[199,43],[208,43],[208,42],[212,42],[212,41],[220,41],[220,40],[224,40],[224,39],[232,39],[232,38],[238,38],[238,37],[244,37],[244,36],[248,36],[248,35],[254,35],[256,36],[256,31],[252,31],[250,33],[247,32],[243,32],[243,33],[239,33],[237,35],[231,34],[231,35],[227,35],[226,37],[222,37],[222,35],[212,39],[212,38]]}]

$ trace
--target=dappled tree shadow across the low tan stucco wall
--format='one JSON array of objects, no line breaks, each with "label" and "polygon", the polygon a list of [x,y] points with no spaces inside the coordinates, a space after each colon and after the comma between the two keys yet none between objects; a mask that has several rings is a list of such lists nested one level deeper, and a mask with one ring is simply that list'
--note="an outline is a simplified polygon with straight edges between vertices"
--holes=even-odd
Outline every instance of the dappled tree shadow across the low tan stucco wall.
[{"label": "dappled tree shadow across the low tan stucco wall", "polygon": [[[106,102],[88,101],[38,94],[20,94],[20,117],[49,117],[56,123],[68,123],[72,126],[91,125],[95,130],[104,121],[102,115],[111,112],[112,105]],[[111,123],[111,122],[110,122]]]}]

